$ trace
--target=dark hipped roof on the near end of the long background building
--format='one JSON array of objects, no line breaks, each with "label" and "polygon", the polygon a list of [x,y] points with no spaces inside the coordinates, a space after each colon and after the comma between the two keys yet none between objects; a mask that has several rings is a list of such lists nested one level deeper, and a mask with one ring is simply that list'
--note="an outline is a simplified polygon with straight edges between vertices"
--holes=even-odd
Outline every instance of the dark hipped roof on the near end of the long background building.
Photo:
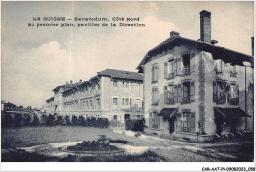
[{"label": "dark hipped roof on the near end of the long background building", "polygon": [[131,71],[116,70],[116,69],[106,69],[104,71],[98,72],[98,76],[109,76],[109,77],[118,78],[118,79],[130,79],[130,80],[143,81],[142,74],[131,72]]}]

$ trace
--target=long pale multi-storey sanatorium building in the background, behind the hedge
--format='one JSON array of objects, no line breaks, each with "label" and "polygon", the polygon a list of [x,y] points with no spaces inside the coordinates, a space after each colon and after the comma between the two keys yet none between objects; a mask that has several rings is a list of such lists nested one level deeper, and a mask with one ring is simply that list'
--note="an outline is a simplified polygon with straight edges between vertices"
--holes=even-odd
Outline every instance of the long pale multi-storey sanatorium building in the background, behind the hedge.
[{"label": "long pale multi-storey sanatorium building in the background, behind the hedge", "polygon": [[143,76],[106,69],[89,81],[66,83],[46,101],[46,111],[60,115],[103,117],[124,123],[143,116]]}]

